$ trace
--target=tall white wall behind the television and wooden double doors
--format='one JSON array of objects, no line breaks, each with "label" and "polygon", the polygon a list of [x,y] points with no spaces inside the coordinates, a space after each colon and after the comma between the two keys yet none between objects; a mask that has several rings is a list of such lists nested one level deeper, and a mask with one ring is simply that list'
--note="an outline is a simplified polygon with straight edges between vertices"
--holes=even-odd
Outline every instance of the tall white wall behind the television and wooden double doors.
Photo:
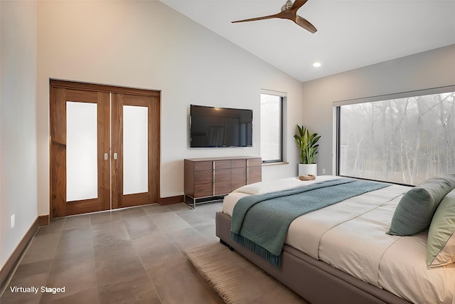
[{"label": "tall white wall behind the television and wooden double doors", "polygon": [[[285,51],[285,50],[284,50]],[[277,54],[279,56],[279,54]],[[183,194],[183,159],[259,156],[259,94],[288,95],[287,137],[301,83],[159,1],[38,1],[38,214],[49,214],[49,78],[161,90],[161,197]],[[253,147],[190,149],[190,104],[250,108]],[[263,179],[296,175],[264,167]]]}]

